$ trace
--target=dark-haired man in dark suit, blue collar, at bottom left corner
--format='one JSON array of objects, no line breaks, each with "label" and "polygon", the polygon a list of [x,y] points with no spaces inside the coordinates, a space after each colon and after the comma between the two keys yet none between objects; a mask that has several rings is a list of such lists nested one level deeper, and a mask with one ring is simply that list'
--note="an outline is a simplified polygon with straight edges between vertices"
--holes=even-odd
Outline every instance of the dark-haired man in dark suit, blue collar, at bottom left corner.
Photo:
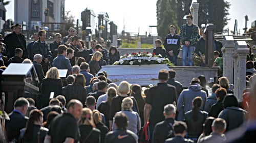
[{"label": "dark-haired man in dark suit, blue collar, at bottom left corner", "polygon": [[25,116],[29,102],[25,98],[19,98],[14,102],[14,110],[9,114],[10,120],[5,123],[5,130],[8,141],[18,140],[20,130],[26,127],[29,120]]}]

